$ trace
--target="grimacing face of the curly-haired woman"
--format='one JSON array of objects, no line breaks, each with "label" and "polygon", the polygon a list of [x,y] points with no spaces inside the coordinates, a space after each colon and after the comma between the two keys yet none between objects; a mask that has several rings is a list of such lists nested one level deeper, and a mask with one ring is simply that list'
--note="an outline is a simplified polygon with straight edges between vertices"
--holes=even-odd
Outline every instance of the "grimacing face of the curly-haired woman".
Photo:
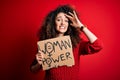
[{"label": "grimacing face of the curly-haired woman", "polygon": [[56,23],[56,30],[60,33],[63,34],[67,31],[68,29],[68,18],[65,16],[65,13],[60,12],[58,13],[58,15],[56,16],[55,19],[55,23]]}]

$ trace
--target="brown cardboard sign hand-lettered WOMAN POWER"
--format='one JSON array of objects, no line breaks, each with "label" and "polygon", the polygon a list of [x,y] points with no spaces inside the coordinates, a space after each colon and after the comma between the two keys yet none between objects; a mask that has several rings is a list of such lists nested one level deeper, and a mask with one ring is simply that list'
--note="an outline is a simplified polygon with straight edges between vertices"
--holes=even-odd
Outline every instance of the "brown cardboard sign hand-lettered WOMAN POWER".
[{"label": "brown cardboard sign hand-lettered WOMAN POWER", "polygon": [[72,44],[70,36],[38,41],[38,50],[42,51],[42,67],[43,70],[58,66],[74,65],[74,57],[72,52]]}]

